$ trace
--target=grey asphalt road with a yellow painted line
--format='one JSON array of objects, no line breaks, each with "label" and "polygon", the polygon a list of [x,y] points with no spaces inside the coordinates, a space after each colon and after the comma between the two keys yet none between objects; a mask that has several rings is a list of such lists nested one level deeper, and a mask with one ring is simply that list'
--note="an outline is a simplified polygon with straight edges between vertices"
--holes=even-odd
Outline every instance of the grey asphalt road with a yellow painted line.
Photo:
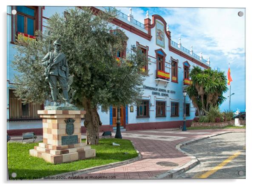
[{"label": "grey asphalt road with a yellow painted line", "polygon": [[200,164],[177,178],[245,178],[245,133],[227,133],[181,147]]}]

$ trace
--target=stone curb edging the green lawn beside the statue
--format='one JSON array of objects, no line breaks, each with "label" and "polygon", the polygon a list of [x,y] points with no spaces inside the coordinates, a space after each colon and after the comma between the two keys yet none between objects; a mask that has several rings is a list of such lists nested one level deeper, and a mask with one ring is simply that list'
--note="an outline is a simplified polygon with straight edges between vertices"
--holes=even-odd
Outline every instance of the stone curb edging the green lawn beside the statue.
[{"label": "stone curb edging the green lawn beside the statue", "polygon": [[[130,140],[131,141],[131,140]],[[131,144],[134,146],[134,143],[131,141]],[[110,163],[110,164],[105,164],[105,165],[101,165],[101,166],[95,166],[95,167],[90,167],[90,168],[86,168],[86,169],[82,169],[82,170],[75,170],[75,171],[71,171],[71,172],[67,172],[67,173],[60,173],[57,175],[53,175],[53,176],[47,176],[47,178],[51,178],[51,177],[74,177],[80,174],[86,174],[86,173],[91,173],[91,172],[95,172],[95,171],[100,171],[100,170],[106,170],[112,167],[117,167],[117,166],[121,166],[121,165],[125,165],[125,164],[130,164],[132,162],[138,161],[142,159],[142,155],[139,153],[139,151],[136,149],[136,147],[134,146],[134,149],[136,150],[136,152],[138,153],[138,156],[132,159],[128,159],[125,161],[119,161],[119,162],[114,162],[114,163]],[[44,177],[42,177],[41,179],[44,179]],[[68,179],[68,178],[66,178]]]}]

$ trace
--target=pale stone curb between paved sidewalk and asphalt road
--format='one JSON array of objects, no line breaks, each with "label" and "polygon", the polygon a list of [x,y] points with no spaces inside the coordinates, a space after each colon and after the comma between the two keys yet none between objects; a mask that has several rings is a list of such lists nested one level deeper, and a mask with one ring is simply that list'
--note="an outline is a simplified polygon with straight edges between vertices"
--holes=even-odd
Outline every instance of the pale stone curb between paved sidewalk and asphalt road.
[{"label": "pale stone curb between paved sidewalk and asphalt road", "polygon": [[191,139],[187,142],[182,142],[179,144],[176,144],[176,149],[179,150],[180,152],[184,153],[185,155],[189,156],[191,158],[191,161],[187,162],[186,164],[182,165],[181,167],[172,169],[172,170],[168,170],[165,173],[160,173],[157,176],[151,177],[151,179],[164,179],[164,178],[176,178],[179,174],[184,173],[188,170],[190,170],[192,167],[195,167],[197,164],[200,163],[200,161],[193,155],[187,153],[186,151],[182,150],[180,147],[184,146],[184,145],[188,145],[188,144],[192,144],[195,142],[199,142],[201,140],[204,139],[208,139],[211,138],[213,136],[219,136],[219,135],[223,135],[223,134],[227,134],[227,133],[243,133],[245,131],[232,131],[232,132],[223,132],[223,133],[218,133],[218,134],[213,134],[210,136],[205,136],[199,139]]}]

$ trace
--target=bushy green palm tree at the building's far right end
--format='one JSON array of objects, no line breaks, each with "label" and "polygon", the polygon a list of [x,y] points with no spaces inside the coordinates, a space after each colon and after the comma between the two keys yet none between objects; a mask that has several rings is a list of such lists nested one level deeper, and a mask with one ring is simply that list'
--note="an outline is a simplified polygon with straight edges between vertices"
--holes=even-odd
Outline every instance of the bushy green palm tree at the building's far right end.
[{"label": "bushy green palm tree at the building's far right end", "polygon": [[219,106],[225,101],[222,94],[228,91],[228,86],[224,71],[210,68],[202,70],[199,66],[193,66],[190,77],[192,84],[186,91],[199,111],[199,116],[208,111],[210,105]]}]

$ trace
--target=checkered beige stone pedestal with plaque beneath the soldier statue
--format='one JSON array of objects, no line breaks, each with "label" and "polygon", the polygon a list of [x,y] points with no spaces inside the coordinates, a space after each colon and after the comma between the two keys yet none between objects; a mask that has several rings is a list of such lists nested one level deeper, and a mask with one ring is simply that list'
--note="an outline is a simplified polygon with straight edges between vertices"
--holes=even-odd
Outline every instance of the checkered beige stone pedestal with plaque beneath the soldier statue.
[{"label": "checkered beige stone pedestal with plaque beneath the soldier statue", "polygon": [[81,118],[85,111],[37,111],[43,118],[43,143],[29,150],[53,164],[87,159],[96,156],[91,146],[81,142]]}]

